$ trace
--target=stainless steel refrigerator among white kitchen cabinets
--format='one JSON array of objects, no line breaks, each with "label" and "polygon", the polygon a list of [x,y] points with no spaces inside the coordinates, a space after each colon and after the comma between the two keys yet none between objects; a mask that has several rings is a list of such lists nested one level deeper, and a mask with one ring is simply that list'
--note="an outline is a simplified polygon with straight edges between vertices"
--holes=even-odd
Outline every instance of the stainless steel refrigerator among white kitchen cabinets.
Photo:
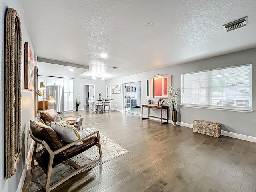
[{"label": "stainless steel refrigerator among white kitchen cabinets", "polygon": [[55,102],[49,103],[48,108],[55,109],[58,113],[64,112],[64,87],[63,86],[46,86],[46,98],[53,96]]}]

